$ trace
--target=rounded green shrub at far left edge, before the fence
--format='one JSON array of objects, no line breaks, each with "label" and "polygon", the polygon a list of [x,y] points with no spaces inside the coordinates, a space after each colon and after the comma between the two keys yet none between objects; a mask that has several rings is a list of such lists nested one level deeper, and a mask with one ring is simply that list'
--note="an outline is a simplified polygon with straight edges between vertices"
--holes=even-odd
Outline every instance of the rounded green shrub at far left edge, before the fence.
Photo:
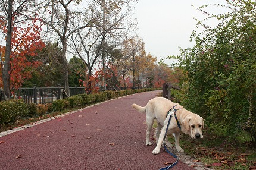
[{"label": "rounded green shrub at far left edge, before the fence", "polygon": [[0,127],[14,124],[18,119],[27,117],[28,112],[23,99],[0,102]]}]

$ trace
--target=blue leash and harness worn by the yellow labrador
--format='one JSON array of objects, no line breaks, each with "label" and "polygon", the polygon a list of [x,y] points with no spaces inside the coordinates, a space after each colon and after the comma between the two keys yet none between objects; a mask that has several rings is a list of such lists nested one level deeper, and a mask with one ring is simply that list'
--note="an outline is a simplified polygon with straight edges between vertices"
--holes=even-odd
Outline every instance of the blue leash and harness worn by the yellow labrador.
[{"label": "blue leash and harness worn by the yellow labrador", "polygon": [[[168,111],[168,114],[171,112],[171,111],[174,111],[174,115],[175,115],[175,118],[176,118],[176,121],[177,121],[177,117],[176,117],[176,111],[179,110],[179,109],[174,109],[175,106],[173,106],[173,108],[170,109],[170,111]],[[167,115],[168,115],[167,114]],[[168,120],[168,124],[167,124],[167,127],[166,127],[166,133],[164,134],[164,139],[166,138],[166,134],[167,134],[167,130],[168,130],[168,127],[169,127],[169,124],[170,124],[170,121],[171,121],[171,118],[173,117],[173,114],[170,115],[169,117],[169,120]],[[179,121],[177,121],[178,125],[179,125]],[[180,128],[180,125],[179,125],[179,128]],[[166,166],[164,168],[160,168],[159,170],[168,170],[170,168],[173,168],[173,166],[175,166],[178,161],[179,161],[179,158],[174,155],[173,153],[171,153],[167,147],[166,147],[166,143],[164,142],[164,149],[166,150],[167,153],[169,153],[171,156],[173,156],[174,158],[176,158],[176,162],[174,162],[173,164],[171,164],[170,166]]]}]

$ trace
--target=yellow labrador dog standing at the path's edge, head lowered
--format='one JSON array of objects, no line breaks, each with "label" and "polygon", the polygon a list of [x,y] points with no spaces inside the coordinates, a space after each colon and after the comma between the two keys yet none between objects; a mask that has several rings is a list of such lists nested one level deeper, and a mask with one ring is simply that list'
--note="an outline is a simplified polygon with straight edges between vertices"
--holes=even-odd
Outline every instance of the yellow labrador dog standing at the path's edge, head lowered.
[{"label": "yellow labrador dog standing at the path's edge, head lowered", "polygon": [[[167,112],[175,106],[177,119],[180,123],[180,127],[177,125],[177,121],[173,117],[171,118],[170,125],[168,127],[168,132],[173,133],[175,135],[175,146],[178,152],[184,152],[184,150],[180,147],[180,131],[185,134],[190,135],[192,138],[202,138],[202,128],[204,126],[203,118],[197,114],[193,114],[192,112],[184,109],[178,103],[173,103],[171,100],[168,100],[164,97],[156,97],[154,99],[149,100],[146,106],[141,107],[136,104],[132,104],[132,107],[135,108],[139,112],[146,112],[146,145],[152,145],[149,141],[149,134],[152,129],[152,125],[154,123],[154,119],[157,119],[157,133],[156,133],[156,142],[157,146],[153,150],[152,153],[158,154],[161,149],[161,145],[164,140],[164,134],[166,133],[166,128],[168,124]],[[162,129],[163,128],[163,129]],[[162,130],[161,130],[162,129]],[[160,133],[161,131],[161,133]]]}]

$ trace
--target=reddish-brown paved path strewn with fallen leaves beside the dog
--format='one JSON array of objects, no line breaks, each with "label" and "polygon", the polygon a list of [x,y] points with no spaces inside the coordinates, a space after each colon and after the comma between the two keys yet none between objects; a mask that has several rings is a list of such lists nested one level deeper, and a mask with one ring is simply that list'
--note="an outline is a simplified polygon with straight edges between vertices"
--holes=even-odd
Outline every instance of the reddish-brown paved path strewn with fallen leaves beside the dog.
[{"label": "reddish-brown paved path strewn with fallen leaves beside the dog", "polygon": [[[160,91],[100,103],[0,137],[0,169],[159,169],[174,162],[145,144],[145,106]],[[152,132],[153,133],[153,132]],[[20,158],[16,158],[21,155]],[[172,169],[192,169],[179,162]]]}]

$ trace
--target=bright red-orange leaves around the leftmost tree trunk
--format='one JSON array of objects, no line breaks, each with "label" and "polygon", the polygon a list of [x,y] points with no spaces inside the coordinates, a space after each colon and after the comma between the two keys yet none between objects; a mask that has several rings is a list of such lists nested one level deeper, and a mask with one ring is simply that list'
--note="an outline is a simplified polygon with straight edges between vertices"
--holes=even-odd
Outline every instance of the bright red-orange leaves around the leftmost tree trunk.
[{"label": "bright red-orange leaves around the leftmost tree trunk", "polygon": [[[7,33],[7,27],[3,21],[0,21],[0,29],[4,34]],[[31,78],[31,70],[39,67],[40,61],[36,59],[27,59],[28,56],[35,57],[36,51],[45,47],[45,43],[40,38],[41,25],[32,20],[32,24],[27,27],[13,27],[11,37],[11,55],[10,55],[10,88],[18,88],[26,78]],[[5,58],[5,46],[0,46],[1,58]],[[26,70],[26,68],[31,68]],[[0,68],[2,74],[2,68]],[[2,86],[2,77],[0,77],[0,86]]]}]

